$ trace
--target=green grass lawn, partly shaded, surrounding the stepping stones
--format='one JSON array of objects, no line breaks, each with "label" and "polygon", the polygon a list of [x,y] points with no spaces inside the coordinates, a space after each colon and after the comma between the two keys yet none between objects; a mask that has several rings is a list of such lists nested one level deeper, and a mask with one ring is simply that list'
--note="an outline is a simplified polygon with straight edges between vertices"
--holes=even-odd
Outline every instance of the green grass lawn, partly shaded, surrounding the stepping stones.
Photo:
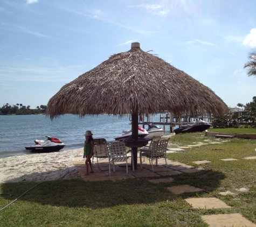
[{"label": "green grass lawn, partly shaded, surrounding the stepping stones", "polygon": [[[245,132],[243,132],[245,133]],[[177,134],[170,138],[171,146],[189,145],[216,138],[204,133]],[[222,141],[218,139],[218,141]],[[207,226],[200,216],[239,212],[256,224],[256,156],[255,140],[227,139],[223,144],[193,147],[168,158],[184,164],[209,160],[200,165],[204,170],[192,174],[172,176],[169,183],[154,184],[147,179],[112,182],[87,182],[82,179],[43,182],[0,211],[1,226]],[[235,158],[236,161],[222,161]],[[191,185],[204,189],[199,193],[174,195],[167,190],[177,185]],[[29,190],[37,182],[4,183],[0,209]],[[246,188],[241,193],[237,189]],[[220,195],[231,191],[234,195]],[[231,209],[193,209],[184,201],[189,197],[217,197]]]}]

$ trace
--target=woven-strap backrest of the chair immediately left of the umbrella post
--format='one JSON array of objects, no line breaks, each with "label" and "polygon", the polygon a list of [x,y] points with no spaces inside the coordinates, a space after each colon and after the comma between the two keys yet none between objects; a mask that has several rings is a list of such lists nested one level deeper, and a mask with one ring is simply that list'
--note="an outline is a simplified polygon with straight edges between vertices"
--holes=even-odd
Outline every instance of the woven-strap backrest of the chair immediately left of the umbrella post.
[{"label": "woven-strap backrest of the chair immediately left of the umbrella post", "polygon": [[126,145],[123,141],[106,143],[109,158],[126,158]]}]

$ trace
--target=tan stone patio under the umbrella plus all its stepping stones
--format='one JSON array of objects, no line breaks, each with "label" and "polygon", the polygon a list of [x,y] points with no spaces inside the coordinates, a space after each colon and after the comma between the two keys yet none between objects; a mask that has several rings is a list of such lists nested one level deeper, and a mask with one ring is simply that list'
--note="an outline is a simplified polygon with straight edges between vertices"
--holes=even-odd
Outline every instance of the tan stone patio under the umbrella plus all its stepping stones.
[{"label": "tan stone patio under the umbrella plus all its stepping stones", "polygon": [[[192,147],[198,147],[205,144],[222,144],[225,142],[222,141],[212,141],[210,139],[204,140],[205,143],[196,143],[188,146],[178,146],[174,148],[169,148],[167,153],[177,153],[183,152],[184,149],[190,149]],[[256,151],[256,149],[255,149]],[[256,159],[255,157],[245,157],[244,159]],[[139,158],[138,158],[139,160]],[[227,158],[222,159],[223,161],[236,161],[238,159]],[[197,165],[207,164],[211,161],[209,160],[198,160],[193,161],[193,163]],[[78,171],[81,175],[81,178],[85,181],[119,181],[125,180],[129,178],[149,178],[148,181],[151,183],[167,183],[174,181],[171,176],[183,173],[195,173],[202,171],[203,168],[195,168],[193,166],[182,164],[181,162],[167,160],[167,166],[165,166],[164,159],[158,159],[158,166],[154,166],[154,172],[152,172],[152,168],[149,165],[148,159],[145,159],[142,166],[143,169],[140,168],[140,164],[137,165],[137,169],[132,171],[129,167],[128,175],[126,174],[126,165],[120,164],[116,165],[116,172],[111,171],[111,175],[109,176],[109,166],[108,159],[99,159],[99,168],[96,164],[96,160],[94,160],[94,173],[85,175],[85,161],[73,161],[73,164],[78,168]],[[163,178],[163,176],[166,176]],[[154,179],[150,179],[154,178]],[[193,187],[190,185],[179,185],[168,187],[171,193],[179,195],[183,193],[196,193],[197,191],[203,191],[201,188]],[[237,191],[247,192],[248,189],[240,188]],[[222,195],[233,195],[230,191],[225,191],[219,193]],[[185,201],[189,203],[194,209],[230,209],[231,207],[225,204],[222,200],[218,198],[211,197],[195,197],[195,198],[186,198]],[[219,214],[219,215],[203,215],[202,219],[206,222],[210,227],[224,227],[224,226],[247,226],[247,227],[256,227],[256,224],[248,221],[241,214]]]}]

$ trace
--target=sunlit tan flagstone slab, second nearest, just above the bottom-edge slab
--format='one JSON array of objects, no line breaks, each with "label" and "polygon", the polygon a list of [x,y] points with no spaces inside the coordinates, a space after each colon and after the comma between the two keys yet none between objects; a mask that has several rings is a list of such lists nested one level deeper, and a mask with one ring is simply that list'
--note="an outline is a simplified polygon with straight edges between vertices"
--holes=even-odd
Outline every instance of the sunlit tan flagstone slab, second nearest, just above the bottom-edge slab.
[{"label": "sunlit tan flagstone slab, second nearest, just above the bottom-edge slab", "polygon": [[221,209],[221,208],[231,208],[229,205],[224,203],[215,197],[210,198],[186,198],[186,202],[192,205],[196,209]]}]

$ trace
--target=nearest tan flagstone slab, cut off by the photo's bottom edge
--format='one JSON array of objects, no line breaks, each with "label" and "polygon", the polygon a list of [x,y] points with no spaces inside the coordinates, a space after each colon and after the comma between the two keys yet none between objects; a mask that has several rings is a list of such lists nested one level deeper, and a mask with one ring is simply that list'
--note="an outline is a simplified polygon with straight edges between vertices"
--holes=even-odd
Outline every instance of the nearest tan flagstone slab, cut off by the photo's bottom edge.
[{"label": "nearest tan flagstone slab, cut off by the photo's bottom edge", "polygon": [[209,224],[210,227],[255,227],[256,225],[244,218],[242,215],[236,214],[220,214],[220,215],[204,215],[202,216],[204,222]]}]

